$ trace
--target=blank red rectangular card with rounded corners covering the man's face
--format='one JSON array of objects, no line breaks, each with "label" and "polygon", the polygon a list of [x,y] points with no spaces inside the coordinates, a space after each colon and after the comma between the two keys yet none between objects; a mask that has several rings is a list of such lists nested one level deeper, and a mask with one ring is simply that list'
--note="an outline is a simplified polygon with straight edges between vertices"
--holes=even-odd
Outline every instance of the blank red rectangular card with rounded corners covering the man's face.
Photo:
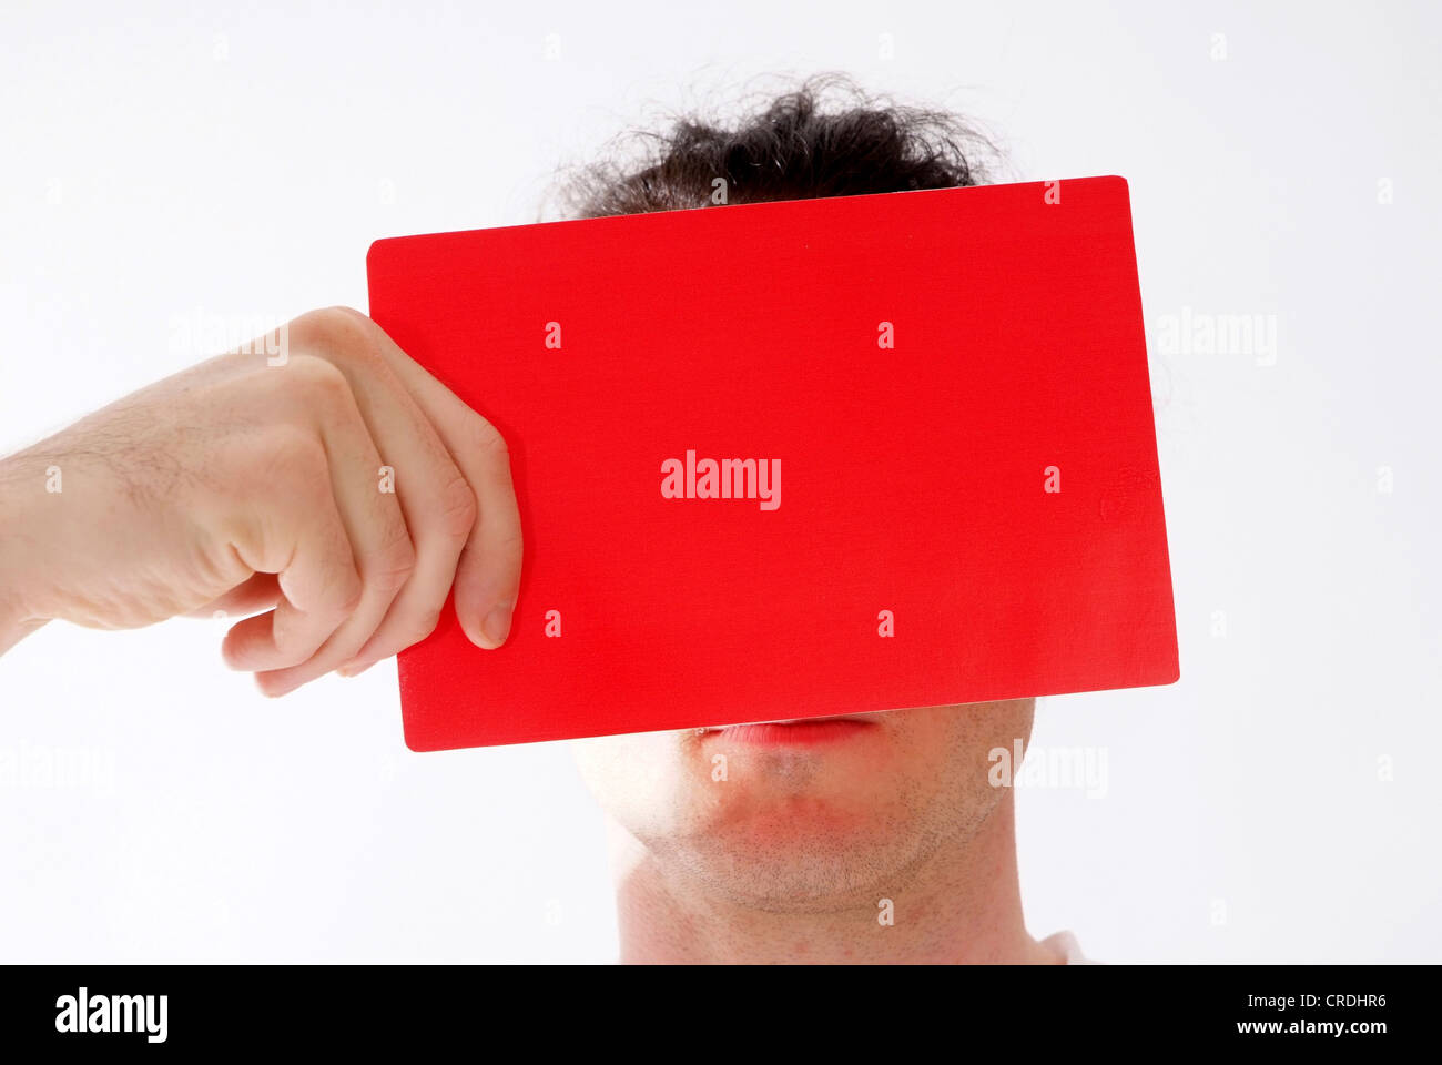
[{"label": "blank red rectangular card with rounded corners covering the man's face", "polygon": [[1120,178],[368,266],[375,320],[505,434],[525,530],[506,645],[447,608],[401,655],[414,750],[1177,680]]}]

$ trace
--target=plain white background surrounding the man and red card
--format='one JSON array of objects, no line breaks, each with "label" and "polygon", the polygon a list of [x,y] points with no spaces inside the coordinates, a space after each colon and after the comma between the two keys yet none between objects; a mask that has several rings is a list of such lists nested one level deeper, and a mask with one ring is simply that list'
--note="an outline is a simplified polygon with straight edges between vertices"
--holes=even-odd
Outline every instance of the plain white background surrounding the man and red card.
[{"label": "plain white background surrounding the man and red card", "polygon": [[[1442,960],[1436,4],[290,7],[6,3],[0,450],[209,354],[185,322],[365,307],[376,237],[535,221],[658,107],[839,69],[960,110],[1012,178],[1131,180],[1154,342],[1278,329],[1275,365],[1154,343],[1182,680],[1041,707],[1107,786],[1019,794],[1032,932]],[[221,635],[0,659],[0,958],[613,957],[565,745],[411,755],[392,664],[267,701]]]}]

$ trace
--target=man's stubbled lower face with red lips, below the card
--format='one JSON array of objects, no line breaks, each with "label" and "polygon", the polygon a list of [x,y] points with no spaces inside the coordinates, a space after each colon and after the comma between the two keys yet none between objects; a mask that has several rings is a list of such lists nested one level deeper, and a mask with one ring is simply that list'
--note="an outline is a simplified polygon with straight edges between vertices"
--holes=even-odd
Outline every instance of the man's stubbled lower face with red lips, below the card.
[{"label": "man's stubbled lower face with red lips, below the card", "polygon": [[1034,700],[580,740],[606,811],[668,870],[763,909],[895,890],[965,846],[1005,789],[988,755],[1031,735]]}]

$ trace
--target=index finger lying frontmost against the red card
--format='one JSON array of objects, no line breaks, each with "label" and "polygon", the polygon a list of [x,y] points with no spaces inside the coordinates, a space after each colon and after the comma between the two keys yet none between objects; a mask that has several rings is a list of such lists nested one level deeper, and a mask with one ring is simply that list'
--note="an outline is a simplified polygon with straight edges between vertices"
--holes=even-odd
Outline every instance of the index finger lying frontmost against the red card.
[{"label": "index finger lying frontmost against the red card", "polygon": [[402,352],[384,330],[381,355],[425,411],[476,495],[476,522],[456,570],[456,618],[477,647],[510,634],[521,586],[521,511],[506,442],[486,418]]}]

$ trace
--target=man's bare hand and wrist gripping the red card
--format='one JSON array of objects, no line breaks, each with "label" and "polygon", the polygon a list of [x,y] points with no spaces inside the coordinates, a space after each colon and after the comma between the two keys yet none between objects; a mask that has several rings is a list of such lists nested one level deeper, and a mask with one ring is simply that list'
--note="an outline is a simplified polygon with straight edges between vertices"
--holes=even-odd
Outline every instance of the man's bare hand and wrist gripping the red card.
[{"label": "man's bare hand and wrist gripping the red card", "polygon": [[521,518],[500,433],[359,312],[249,348],[0,462],[0,651],[52,618],[254,613],[222,651],[280,696],[424,639],[453,584],[472,642],[506,639]]}]

